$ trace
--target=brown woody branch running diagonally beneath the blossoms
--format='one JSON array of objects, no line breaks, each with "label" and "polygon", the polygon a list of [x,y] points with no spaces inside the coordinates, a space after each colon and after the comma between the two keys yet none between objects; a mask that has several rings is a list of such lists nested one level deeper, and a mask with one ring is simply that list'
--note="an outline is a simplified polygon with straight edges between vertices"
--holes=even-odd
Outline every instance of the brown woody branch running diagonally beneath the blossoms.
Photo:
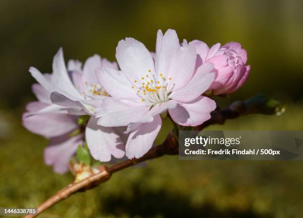
[{"label": "brown woody branch running diagonally beneath the blossoms", "polygon": [[[244,102],[237,101],[231,104],[228,108],[224,110],[216,109],[211,113],[211,118],[203,123],[202,125],[195,127],[194,130],[202,130],[205,127],[212,124],[224,124],[227,119],[234,119],[242,115],[248,114],[275,114],[281,110],[280,104],[277,101],[268,99],[262,95],[250,98]],[[100,183],[108,180],[111,174],[123,170],[127,167],[136,165],[140,162],[161,157],[163,155],[177,155],[179,153],[178,141],[176,138],[169,134],[163,144],[153,147],[148,153],[138,159],[132,159],[123,161],[112,167],[106,168],[106,170],[101,171],[98,174],[94,174],[80,182],[71,183],[57,194],[50,197],[44,203],[38,207],[38,213],[35,215],[27,215],[24,218],[35,218],[52,205],[58,203],[59,201],[68,198],[70,195],[78,192],[85,191],[90,188],[98,186]]]}]

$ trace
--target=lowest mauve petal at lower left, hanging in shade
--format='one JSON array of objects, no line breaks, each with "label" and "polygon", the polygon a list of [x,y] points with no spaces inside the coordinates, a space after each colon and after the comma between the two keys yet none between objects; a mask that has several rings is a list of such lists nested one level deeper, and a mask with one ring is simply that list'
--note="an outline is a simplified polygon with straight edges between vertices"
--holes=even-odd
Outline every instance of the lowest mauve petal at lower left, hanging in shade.
[{"label": "lowest mauve petal at lower left, hanging in shade", "polygon": [[44,160],[49,166],[53,166],[53,171],[57,174],[68,172],[70,158],[76,153],[77,147],[83,144],[83,135],[74,137],[61,136],[52,138],[50,145],[44,150]]}]

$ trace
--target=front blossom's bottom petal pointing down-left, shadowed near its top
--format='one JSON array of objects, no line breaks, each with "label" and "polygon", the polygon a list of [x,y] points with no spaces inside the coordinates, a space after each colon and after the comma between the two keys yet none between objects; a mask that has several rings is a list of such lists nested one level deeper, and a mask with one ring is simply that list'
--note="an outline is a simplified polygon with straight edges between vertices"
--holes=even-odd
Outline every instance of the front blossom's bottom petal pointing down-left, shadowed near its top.
[{"label": "front blossom's bottom petal pointing down-left, shadowed near its top", "polygon": [[138,130],[132,131],[126,143],[126,156],[132,159],[140,158],[146,154],[151,149],[161,125],[161,118],[157,115],[153,122],[143,124]]}]

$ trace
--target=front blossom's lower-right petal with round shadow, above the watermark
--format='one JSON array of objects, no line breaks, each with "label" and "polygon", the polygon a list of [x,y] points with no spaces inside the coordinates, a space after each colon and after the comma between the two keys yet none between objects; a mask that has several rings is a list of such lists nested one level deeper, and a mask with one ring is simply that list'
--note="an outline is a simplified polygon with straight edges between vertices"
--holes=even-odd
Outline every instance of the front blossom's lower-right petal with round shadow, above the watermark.
[{"label": "front blossom's lower-right petal with round shadow, above the watermark", "polygon": [[198,126],[210,118],[210,112],[216,108],[215,101],[199,96],[192,102],[179,103],[174,109],[169,109],[169,115],[179,125]]}]

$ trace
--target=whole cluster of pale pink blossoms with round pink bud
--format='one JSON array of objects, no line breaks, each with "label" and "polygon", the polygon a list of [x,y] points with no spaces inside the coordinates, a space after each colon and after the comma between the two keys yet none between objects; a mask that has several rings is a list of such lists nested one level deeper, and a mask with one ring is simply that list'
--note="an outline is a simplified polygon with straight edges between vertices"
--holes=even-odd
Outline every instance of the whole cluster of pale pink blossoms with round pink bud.
[{"label": "whole cluster of pale pink blossoms with round pink bud", "polygon": [[[116,60],[95,54],[83,66],[78,60],[66,66],[60,48],[51,74],[29,69],[38,100],[27,104],[23,125],[50,139],[44,157],[56,173],[68,171],[84,141],[101,162],[140,158],[161,129],[161,115],[179,126],[201,125],[216,108],[209,96],[236,91],[250,72],[241,44],[180,44],[174,30],[157,32],[155,52],[133,38],[121,40]],[[89,116],[84,126],[83,115]]]}]

